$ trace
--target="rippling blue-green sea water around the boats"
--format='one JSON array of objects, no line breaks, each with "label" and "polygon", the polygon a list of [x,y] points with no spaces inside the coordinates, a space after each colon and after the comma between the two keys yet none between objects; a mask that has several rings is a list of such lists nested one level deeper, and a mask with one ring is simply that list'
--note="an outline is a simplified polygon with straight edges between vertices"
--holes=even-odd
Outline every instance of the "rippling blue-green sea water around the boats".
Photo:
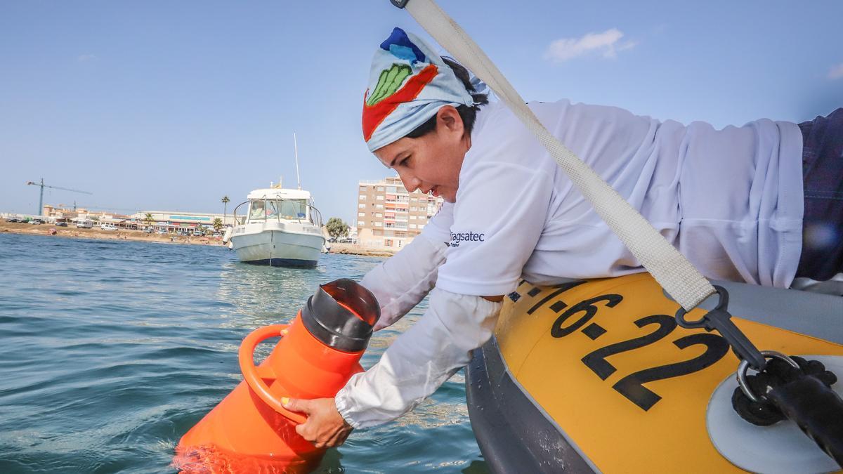
[{"label": "rippling blue-green sea water around the boats", "polygon": [[[243,337],[379,261],[255,267],[219,246],[0,234],[0,472],[174,471],[175,444],[241,380]],[[375,333],[363,366],[425,308]],[[318,471],[432,470],[487,471],[462,373],[409,415],[352,433]]]}]

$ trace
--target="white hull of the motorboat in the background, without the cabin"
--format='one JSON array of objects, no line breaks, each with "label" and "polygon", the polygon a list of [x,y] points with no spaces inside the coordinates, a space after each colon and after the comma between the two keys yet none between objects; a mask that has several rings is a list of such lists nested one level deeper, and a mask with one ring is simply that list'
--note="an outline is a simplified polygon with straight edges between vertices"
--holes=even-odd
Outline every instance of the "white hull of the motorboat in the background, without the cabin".
[{"label": "white hull of the motorboat in the background, without the cabin", "polygon": [[240,261],[272,267],[316,267],[325,238],[295,232],[277,224],[248,224],[235,228],[231,243]]}]

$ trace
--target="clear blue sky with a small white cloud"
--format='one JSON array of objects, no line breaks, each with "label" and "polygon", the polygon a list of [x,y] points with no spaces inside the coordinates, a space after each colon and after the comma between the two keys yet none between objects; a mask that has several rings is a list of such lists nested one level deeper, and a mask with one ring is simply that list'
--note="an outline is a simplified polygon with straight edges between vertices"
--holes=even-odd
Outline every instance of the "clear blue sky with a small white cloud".
[{"label": "clear blue sky with a small white cloud", "polygon": [[[843,3],[440,0],[526,100],[716,127],[843,106]],[[0,3],[0,212],[222,212],[284,176],[351,220],[388,170],[360,132],[387,0]]]}]

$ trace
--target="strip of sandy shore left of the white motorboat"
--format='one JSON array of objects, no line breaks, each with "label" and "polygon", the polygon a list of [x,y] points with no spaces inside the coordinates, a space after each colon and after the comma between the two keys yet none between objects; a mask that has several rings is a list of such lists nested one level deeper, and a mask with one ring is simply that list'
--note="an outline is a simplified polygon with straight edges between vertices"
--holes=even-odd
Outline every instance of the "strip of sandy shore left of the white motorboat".
[{"label": "strip of sandy shore left of the white motorboat", "polygon": [[[52,234],[55,229],[56,233]],[[223,245],[219,237],[185,237],[183,235],[170,234],[146,234],[141,230],[102,230],[99,227],[94,229],[78,229],[74,226],[56,227],[53,224],[21,224],[0,221],[0,233],[9,232],[12,234],[36,234],[52,235],[55,237],[71,237],[77,239],[102,239],[102,240],[137,240],[141,242],[158,242],[161,244],[191,244],[191,245]]]}]

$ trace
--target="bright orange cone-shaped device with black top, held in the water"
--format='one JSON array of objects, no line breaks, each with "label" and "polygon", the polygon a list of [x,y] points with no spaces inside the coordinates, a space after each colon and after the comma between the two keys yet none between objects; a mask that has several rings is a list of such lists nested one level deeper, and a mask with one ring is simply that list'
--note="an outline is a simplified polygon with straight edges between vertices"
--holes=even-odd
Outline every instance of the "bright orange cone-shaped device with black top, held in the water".
[{"label": "bright orange cone-shaped device with black top, held in the water", "polygon": [[[282,406],[283,397],[335,396],[359,364],[380,317],[374,295],[353,280],[321,285],[291,325],[256,329],[240,344],[244,380],[191,428],[176,447],[173,465],[192,472],[303,472],[325,449],[296,433],[306,417]],[[261,341],[281,337],[255,367]]]}]

